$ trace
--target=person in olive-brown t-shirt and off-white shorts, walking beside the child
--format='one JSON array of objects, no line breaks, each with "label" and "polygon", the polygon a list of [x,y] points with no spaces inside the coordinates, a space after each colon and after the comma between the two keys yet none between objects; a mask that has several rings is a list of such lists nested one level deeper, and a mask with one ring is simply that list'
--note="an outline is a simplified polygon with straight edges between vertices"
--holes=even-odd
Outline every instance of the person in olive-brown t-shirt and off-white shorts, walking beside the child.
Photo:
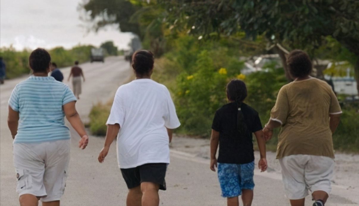
[{"label": "person in olive-brown t-shirt and off-white shorts, walking beside the child", "polygon": [[309,189],[313,206],[323,206],[333,176],[332,133],[342,112],[331,86],[309,76],[312,62],[304,51],[290,52],[287,64],[294,81],[279,90],[263,132],[270,139],[273,129],[281,127],[277,159],[290,204],[304,206]]}]

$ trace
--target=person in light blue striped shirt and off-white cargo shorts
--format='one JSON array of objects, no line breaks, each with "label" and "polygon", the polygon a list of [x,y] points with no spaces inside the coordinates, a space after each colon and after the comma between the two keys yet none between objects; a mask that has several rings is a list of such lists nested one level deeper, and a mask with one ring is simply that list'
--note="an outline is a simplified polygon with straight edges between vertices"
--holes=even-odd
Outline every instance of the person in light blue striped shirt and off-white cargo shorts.
[{"label": "person in light blue striped shirt and off-white cargo shorts", "polygon": [[85,127],[76,112],[76,98],[69,87],[48,76],[50,54],[32,51],[33,75],[17,84],[9,99],[8,126],[20,206],[58,206],[64,194],[70,162],[70,130],[64,117],[81,136],[79,147],[88,144]]}]

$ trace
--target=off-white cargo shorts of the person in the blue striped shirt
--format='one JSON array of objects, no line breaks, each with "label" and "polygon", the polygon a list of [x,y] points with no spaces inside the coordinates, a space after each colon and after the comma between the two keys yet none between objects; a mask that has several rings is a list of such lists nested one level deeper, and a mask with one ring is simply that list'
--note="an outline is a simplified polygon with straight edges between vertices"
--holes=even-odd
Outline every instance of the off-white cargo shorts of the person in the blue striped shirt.
[{"label": "off-white cargo shorts of the person in the blue striped shirt", "polygon": [[17,193],[33,194],[42,202],[60,200],[65,191],[71,140],[14,143]]}]

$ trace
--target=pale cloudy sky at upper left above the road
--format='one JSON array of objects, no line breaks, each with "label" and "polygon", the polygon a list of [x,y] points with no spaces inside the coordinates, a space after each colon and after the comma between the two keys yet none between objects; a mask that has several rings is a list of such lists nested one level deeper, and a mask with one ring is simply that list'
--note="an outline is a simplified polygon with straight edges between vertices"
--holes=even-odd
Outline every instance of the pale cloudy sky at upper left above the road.
[{"label": "pale cloudy sky at upper left above the road", "polygon": [[55,46],[71,48],[77,44],[99,46],[113,41],[118,49],[126,49],[130,33],[121,33],[108,26],[97,33],[80,25],[77,6],[81,0],[0,0],[0,47],[17,50]]}]

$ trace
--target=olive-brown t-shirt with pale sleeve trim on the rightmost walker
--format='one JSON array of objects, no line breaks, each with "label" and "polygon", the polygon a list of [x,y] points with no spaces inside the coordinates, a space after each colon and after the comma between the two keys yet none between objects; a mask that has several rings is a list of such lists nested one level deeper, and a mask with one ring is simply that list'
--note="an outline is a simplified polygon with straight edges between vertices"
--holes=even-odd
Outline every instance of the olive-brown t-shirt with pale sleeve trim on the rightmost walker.
[{"label": "olive-brown t-shirt with pale sleeve trim on the rightmost walker", "polygon": [[339,102],[327,82],[311,77],[284,85],[271,110],[280,122],[277,159],[292,154],[334,158],[329,114],[340,114]]}]

